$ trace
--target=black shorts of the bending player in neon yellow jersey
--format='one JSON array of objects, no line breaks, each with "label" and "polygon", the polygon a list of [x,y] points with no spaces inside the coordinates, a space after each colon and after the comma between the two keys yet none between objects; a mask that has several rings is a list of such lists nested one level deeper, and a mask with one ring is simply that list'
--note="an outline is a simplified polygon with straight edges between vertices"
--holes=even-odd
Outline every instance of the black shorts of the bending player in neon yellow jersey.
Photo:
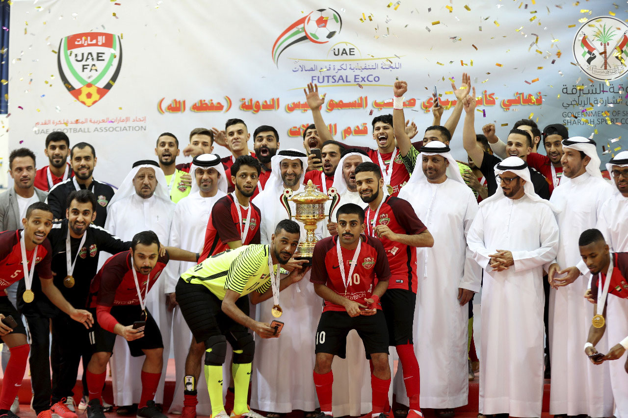
[{"label": "black shorts of the bending player in neon yellow jersey", "polygon": [[[246,326],[237,323],[222,311],[222,301],[202,284],[188,283],[179,279],[175,292],[183,319],[190,327],[197,343],[207,341],[211,336],[224,335],[235,349],[236,341],[249,333]],[[244,314],[249,314],[248,297],[237,299],[236,306]]]}]

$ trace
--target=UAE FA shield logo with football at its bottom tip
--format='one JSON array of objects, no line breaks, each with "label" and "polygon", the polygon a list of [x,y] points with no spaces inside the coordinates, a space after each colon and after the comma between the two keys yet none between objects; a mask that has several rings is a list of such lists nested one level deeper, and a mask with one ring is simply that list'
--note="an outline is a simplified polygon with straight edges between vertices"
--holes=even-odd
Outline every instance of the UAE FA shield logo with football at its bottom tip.
[{"label": "UAE FA shield logo with football at its bottom tip", "polygon": [[122,66],[120,36],[103,32],[65,36],[59,43],[57,65],[68,92],[89,107],[116,83]]}]

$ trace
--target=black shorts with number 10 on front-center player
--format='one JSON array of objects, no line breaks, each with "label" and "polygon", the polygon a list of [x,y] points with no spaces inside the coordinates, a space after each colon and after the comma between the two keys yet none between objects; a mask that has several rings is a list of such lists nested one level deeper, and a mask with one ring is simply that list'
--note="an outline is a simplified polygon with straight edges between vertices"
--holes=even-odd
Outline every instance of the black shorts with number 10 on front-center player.
[{"label": "black shorts with number 10 on front-center player", "polygon": [[388,331],[381,310],[370,316],[351,318],[346,311],[325,311],[321,314],[316,330],[315,353],[333,354],[340,358],[347,355],[347,334],[357,331],[364,343],[366,358],[374,353],[388,354]]}]

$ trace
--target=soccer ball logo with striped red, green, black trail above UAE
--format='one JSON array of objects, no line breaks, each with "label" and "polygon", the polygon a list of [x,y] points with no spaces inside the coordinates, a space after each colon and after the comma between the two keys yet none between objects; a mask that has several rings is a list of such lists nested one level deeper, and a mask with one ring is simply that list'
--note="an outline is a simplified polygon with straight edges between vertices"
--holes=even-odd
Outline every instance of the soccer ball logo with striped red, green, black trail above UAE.
[{"label": "soccer ball logo with striped red, green, black trail above UAE", "polygon": [[342,18],[332,8],[311,11],[284,29],[273,44],[273,62],[278,63],[279,55],[288,47],[306,40],[313,43],[327,43],[340,33]]}]

